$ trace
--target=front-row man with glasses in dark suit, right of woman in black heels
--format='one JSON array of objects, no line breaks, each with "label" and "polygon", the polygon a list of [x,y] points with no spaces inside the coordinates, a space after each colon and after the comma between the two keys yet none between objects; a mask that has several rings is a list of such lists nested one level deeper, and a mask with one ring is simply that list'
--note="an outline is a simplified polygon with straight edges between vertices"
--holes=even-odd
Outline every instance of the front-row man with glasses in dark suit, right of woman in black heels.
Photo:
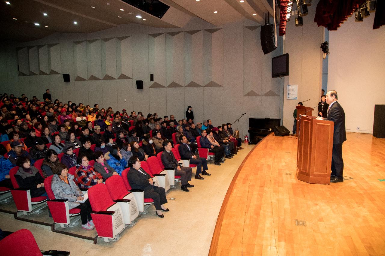
[{"label": "front-row man with glasses in dark suit, right of woman in black heels", "polygon": [[191,180],[192,169],[190,167],[180,166],[174,154],[171,152],[171,142],[163,142],[164,151],[162,153],[162,163],[166,169],[174,169],[175,175],[181,176],[181,190],[188,192],[188,188],[194,187],[188,183]]}]

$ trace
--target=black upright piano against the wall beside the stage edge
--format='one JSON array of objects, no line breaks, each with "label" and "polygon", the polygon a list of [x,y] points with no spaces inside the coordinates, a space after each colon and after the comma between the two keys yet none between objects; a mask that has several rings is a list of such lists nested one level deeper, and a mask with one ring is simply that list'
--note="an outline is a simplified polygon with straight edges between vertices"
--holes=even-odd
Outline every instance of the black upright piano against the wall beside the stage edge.
[{"label": "black upright piano against the wall beside the stage edge", "polygon": [[281,125],[281,118],[249,118],[249,143],[257,144]]}]

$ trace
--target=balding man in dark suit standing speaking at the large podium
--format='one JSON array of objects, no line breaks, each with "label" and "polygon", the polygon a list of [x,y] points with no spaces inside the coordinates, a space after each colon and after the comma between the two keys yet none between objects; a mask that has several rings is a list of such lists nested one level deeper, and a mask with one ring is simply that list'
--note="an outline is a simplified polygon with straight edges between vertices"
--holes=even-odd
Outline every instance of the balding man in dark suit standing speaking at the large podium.
[{"label": "balding man in dark suit standing speaking at the large podium", "polygon": [[332,90],[326,93],[326,103],[329,104],[328,120],[334,122],[333,151],[331,153],[331,183],[343,182],[342,143],[346,140],[345,112],[337,100],[336,91]]}]

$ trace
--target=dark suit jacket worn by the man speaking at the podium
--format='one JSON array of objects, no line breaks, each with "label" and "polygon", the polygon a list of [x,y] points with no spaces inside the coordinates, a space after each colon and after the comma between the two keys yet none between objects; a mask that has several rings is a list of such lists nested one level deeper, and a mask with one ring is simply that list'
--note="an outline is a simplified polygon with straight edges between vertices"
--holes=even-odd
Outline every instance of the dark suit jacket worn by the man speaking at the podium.
[{"label": "dark suit jacket worn by the man speaking at the podium", "polygon": [[345,112],[337,101],[328,111],[328,120],[334,122],[333,144],[340,144],[346,140]]}]

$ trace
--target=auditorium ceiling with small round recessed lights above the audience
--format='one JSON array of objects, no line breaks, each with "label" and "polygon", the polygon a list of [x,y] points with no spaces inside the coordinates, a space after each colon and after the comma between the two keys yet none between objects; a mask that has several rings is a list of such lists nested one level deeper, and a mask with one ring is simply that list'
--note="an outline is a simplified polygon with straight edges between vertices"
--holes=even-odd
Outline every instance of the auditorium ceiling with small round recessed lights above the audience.
[{"label": "auditorium ceiling with small round recessed lights above the audience", "polygon": [[[3,0],[0,39],[26,42],[52,33],[92,33],[127,23],[181,28],[194,16],[214,26],[244,19],[263,24],[264,13],[273,12],[268,1],[272,0],[161,0],[170,8],[159,19],[120,0],[8,0],[10,4]],[[136,18],[138,14],[142,18]]]}]

